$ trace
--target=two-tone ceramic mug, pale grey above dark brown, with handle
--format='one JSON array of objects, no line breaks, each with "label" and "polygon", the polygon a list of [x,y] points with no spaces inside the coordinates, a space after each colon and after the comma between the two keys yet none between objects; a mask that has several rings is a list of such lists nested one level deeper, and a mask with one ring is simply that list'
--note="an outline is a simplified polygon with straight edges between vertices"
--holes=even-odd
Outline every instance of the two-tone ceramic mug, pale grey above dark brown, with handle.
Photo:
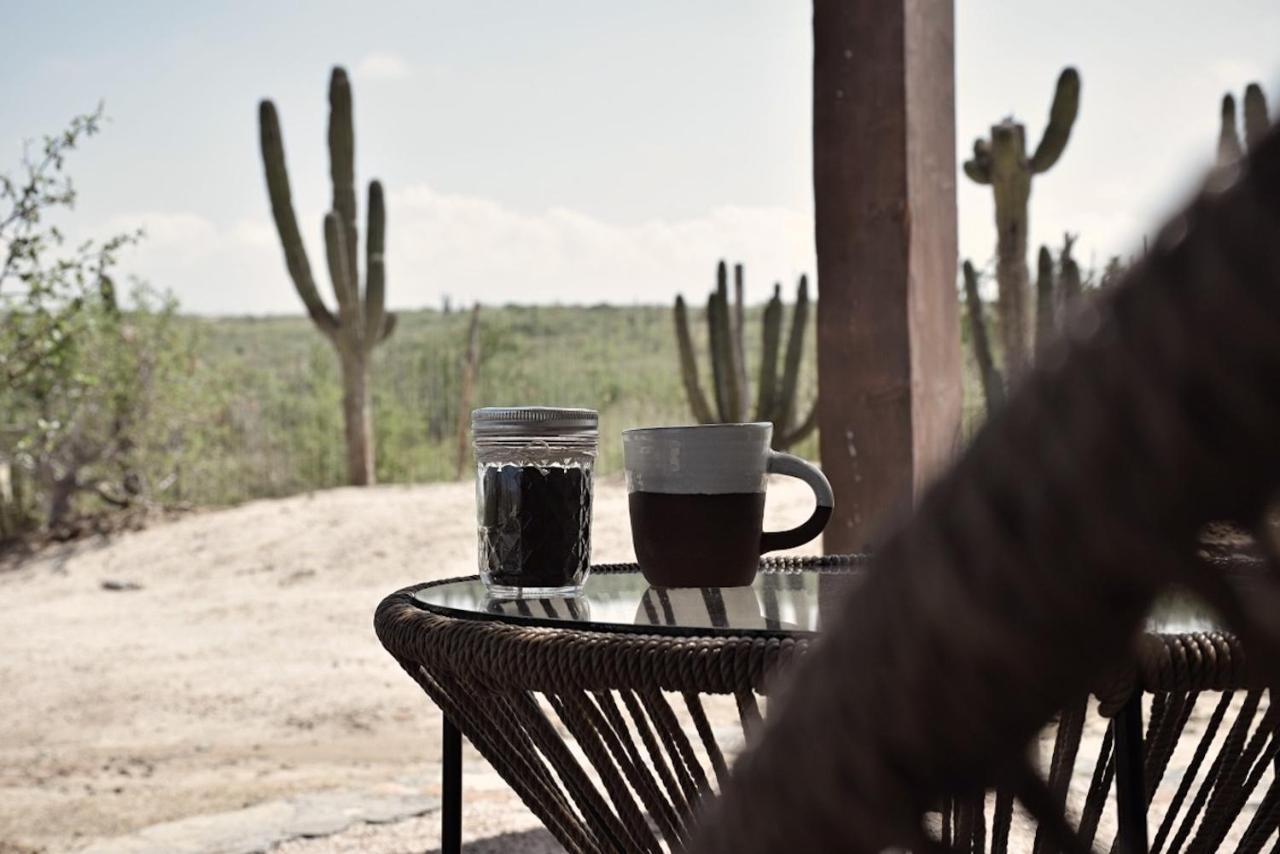
[{"label": "two-tone ceramic mug, pale grey above dark brown, with handle", "polygon": [[[769,448],[773,425],[708,424],[622,434],[631,539],[659,588],[741,586],[760,554],[803,545],[831,517],[831,485],[813,465]],[[805,480],[817,510],[804,525],[763,531],[769,472]]]}]

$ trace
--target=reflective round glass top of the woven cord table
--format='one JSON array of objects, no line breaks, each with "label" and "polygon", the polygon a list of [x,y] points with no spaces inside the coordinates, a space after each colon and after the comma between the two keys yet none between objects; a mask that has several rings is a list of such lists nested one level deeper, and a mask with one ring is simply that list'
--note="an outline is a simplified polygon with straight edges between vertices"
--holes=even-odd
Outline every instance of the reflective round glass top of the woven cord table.
[{"label": "reflective round glass top of the woven cord table", "polygon": [[[430,584],[415,602],[442,616],[517,625],[668,635],[814,635],[864,570],[762,570],[741,588],[653,588],[639,571],[593,571],[571,598],[499,599],[479,577]],[[1215,615],[1189,597],[1165,598],[1156,632],[1215,631]]]}]

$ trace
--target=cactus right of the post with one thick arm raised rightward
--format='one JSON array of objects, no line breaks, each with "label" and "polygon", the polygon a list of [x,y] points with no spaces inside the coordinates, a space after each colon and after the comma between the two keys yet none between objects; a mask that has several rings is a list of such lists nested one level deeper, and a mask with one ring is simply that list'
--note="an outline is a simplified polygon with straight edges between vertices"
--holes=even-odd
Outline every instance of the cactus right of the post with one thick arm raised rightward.
[{"label": "cactus right of the post with one thick arm raised rightward", "polygon": [[1027,269],[1028,202],[1032,178],[1048,172],[1066,150],[1080,105],[1080,76],[1066,68],[1057,78],[1048,124],[1028,155],[1027,131],[1012,118],[992,125],[991,137],[973,145],[964,164],[970,179],[992,188],[996,200],[996,284],[1005,373],[1019,376],[1034,352],[1036,309]]}]

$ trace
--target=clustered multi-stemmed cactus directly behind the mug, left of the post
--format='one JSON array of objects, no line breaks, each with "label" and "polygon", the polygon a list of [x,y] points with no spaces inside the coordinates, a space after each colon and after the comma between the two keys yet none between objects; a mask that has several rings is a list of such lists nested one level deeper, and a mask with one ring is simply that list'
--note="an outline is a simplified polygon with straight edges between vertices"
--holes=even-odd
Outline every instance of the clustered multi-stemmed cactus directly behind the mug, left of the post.
[{"label": "clustered multi-stemmed cactus directly behind the mug, left of the post", "polygon": [[[684,297],[676,297],[676,343],[680,370],[689,406],[699,424],[745,421],[750,417],[751,389],[746,379],[745,315],[742,298],[742,265],[733,268],[733,303],[728,297],[728,268],[721,261],[716,270],[716,289],[707,302],[707,330],[710,339],[712,389],[714,408],[703,393],[698,379],[698,357],[689,332],[689,309]],[[773,298],[764,307],[763,350],[760,355],[759,393],[755,420],[773,424],[773,446],[786,449],[817,428],[817,407],[796,423],[800,365],[804,361],[804,338],[809,321],[809,282],[800,277],[796,305],[791,315],[791,335],[782,348],[782,286],[774,286]],[[782,369],[778,359],[783,356]]]}]

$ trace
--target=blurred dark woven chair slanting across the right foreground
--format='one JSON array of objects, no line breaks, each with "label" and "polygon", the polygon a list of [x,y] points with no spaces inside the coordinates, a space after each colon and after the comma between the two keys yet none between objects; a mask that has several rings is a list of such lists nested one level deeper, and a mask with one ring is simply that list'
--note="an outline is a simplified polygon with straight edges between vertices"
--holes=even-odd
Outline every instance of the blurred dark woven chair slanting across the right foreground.
[{"label": "blurred dark woven chair slanting across the right foreground", "polygon": [[[1037,823],[1034,850],[1089,850],[1120,759],[1108,727],[1085,808],[1064,809],[1091,690],[1107,713],[1152,693],[1146,791],[1194,745],[1153,850],[1260,850],[1280,819],[1263,690],[1280,668],[1275,561],[1242,594],[1197,538],[1212,520],[1258,530],[1277,485],[1272,132],[1083,310],[887,542],[788,671],[690,850],[1002,851],[1015,812]],[[1137,643],[1174,585],[1235,634]],[[1212,712],[1193,734],[1201,691]],[[1059,709],[1046,773],[1028,748]]]}]

